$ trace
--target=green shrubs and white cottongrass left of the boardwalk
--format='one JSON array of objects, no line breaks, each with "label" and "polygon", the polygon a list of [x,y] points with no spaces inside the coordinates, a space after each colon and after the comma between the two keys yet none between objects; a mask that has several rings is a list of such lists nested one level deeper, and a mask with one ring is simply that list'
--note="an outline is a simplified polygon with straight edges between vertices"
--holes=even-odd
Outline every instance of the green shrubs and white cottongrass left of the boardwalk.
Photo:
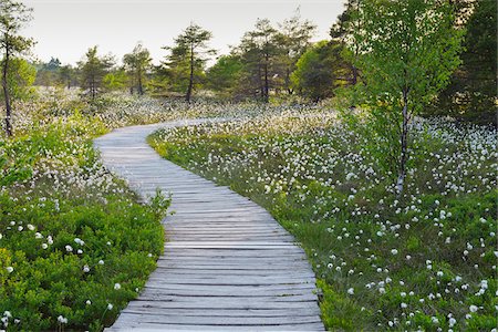
[{"label": "green shrubs and white cottongrass left of the boardwalk", "polygon": [[107,126],[71,113],[0,137],[0,330],[101,331],[163,250],[169,200],[138,204],[92,147]]}]

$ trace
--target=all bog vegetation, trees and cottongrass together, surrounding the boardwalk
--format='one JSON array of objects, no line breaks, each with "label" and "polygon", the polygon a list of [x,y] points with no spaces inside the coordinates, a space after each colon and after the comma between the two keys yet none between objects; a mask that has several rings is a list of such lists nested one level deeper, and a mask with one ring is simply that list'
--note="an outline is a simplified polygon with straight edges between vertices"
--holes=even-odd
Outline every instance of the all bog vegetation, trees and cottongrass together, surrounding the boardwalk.
[{"label": "all bog vegetation, trees and cottongrass together, surrounding the boardwalk", "polygon": [[195,117],[226,122],[151,144],[295,236],[329,329],[495,329],[497,2],[345,2],[315,43],[297,10],[229,54],[191,23],[159,65],[142,43],[70,65],[33,61],[35,13],[0,1],[0,330],[113,322],[155,268],[169,198],[139,204],[92,139]]}]

